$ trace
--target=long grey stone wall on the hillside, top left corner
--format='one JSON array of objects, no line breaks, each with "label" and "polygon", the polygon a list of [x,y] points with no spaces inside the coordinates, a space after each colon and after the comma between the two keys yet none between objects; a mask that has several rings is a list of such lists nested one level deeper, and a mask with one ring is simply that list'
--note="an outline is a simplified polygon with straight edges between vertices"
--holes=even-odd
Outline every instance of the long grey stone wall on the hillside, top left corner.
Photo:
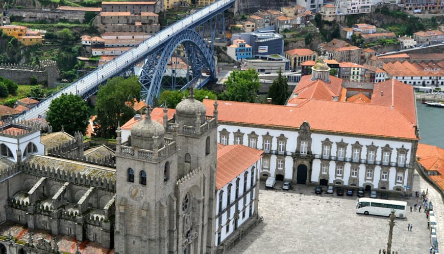
[{"label": "long grey stone wall on the hillside, top left corner", "polygon": [[[70,22],[79,21],[83,23],[85,19],[86,11],[65,11],[58,9],[37,9],[37,8],[28,8],[28,9],[9,9],[8,14],[10,16],[21,17],[21,21],[39,21],[46,20],[48,23],[57,23],[58,21],[67,20]],[[97,12],[98,14],[98,12]]]}]

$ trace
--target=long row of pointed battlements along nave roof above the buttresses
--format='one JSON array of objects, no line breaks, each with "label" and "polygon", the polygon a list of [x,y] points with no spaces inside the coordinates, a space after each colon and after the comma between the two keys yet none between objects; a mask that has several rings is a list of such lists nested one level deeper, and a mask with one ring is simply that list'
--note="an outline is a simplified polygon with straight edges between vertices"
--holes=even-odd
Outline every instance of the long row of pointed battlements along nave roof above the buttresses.
[{"label": "long row of pointed battlements along nave roof above the buttresses", "polygon": [[76,173],[72,171],[65,171],[61,170],[60,168],[57,168],[56,170],[54,167],[53,168],[45,167],[44,165],[40,166],[40,165],[35,165],[34,163],[33,164],[26,163],[26,165],[23,166],[22,171],[40,177],[46,177],[64,182],[81,184],[89,187],[102,188],[112,192],[116,191],[115,172],[109,172],[113,175],[112,178],[109,178],[109,177],[102,177],[95,175],[92,176],[92,174],[81,174],[80,172]]}]

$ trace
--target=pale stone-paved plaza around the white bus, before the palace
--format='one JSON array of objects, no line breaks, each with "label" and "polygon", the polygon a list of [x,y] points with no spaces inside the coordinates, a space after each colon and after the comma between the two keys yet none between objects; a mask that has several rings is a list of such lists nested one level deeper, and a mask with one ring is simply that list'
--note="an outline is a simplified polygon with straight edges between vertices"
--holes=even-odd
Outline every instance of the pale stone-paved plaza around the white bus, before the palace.
[{"label": "pale stone-paved plaza around the white bus, before the palace", "polygon": [[[354,196],[318,196],[312,186],[294,185],[289,191],[280,186],[277,190],[263,186],[261,182],[259,215],[264,216],[264,221],[229,253],[379,253],[387,246],[388,217],[356,214],[356,191]],[[434,210],[442,213],[437,192],[417,175],[413,188],[428,188]],[[429,253],[426,215],[423,210],[410,212],[410,205],[420,204],[420,199],[405,199],[409,206],[407,218],[396,219],[392,250],[399,254]],[[441,220],[438,215],[438,233]],[[408,223],[413,224],[411,232],[407,231]],[[444,248],[444,243],[440,246]]]}]

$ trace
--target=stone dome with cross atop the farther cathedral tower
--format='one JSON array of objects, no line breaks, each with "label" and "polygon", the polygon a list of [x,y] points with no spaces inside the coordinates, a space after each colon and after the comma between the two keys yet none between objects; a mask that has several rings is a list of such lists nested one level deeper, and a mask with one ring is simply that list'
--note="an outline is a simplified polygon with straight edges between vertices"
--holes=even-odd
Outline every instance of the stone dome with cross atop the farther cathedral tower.
[{"label": "stone dome with cross atop the farther cathedral tower", "polygon": [[205,123],[205,115],[207,115],[207,108],[204,103],[194,99],[193,88],[190,88],[190,95],[188,98],[183,98],[176,106],[176,123],[183,123],[187,126],[196,125],[196,117],[200,114],[199,125]]}]

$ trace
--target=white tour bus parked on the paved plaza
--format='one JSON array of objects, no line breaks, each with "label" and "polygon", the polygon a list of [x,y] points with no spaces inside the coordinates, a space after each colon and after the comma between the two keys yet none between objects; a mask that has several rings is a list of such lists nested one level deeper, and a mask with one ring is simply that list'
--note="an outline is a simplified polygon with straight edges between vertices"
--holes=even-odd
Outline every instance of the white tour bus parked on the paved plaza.
[{"label": "white tour bus parked on the paved plaza", "polygon": [[407,202],[396,200],[378,200],[361,197],[356,200],[356,213],[389,216],[394,210],[394,215],[405,218]]}]

